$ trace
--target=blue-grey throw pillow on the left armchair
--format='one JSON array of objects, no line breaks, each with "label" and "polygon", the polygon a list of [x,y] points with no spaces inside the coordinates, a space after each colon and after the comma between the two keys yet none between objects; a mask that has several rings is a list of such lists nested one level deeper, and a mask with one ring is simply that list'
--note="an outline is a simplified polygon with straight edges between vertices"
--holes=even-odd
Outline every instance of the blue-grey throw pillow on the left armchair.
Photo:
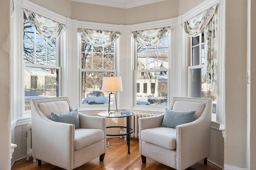
[{"label": "blue-grey throw pillow on the left armchair", "polygon": [[52,120],[58,121],[62,123],[69,123],[75,125],[75,129],[79,127],[79,117],[78,117],[78,109],[73,111],[69,111],[66,113],[53,113],[52,112]]}]

